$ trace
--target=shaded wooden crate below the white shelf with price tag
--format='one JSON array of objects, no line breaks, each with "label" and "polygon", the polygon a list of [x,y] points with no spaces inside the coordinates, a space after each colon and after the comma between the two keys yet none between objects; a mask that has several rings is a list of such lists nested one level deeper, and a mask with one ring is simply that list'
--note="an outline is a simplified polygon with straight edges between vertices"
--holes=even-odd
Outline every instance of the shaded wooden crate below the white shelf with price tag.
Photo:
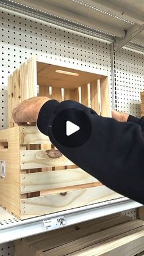
[{"label": "shaded wooden crate below the white shelf with price tag", "polygon": [[132,256],[143,241],[143,221],[113,214],[15,241],[15,256]]}]

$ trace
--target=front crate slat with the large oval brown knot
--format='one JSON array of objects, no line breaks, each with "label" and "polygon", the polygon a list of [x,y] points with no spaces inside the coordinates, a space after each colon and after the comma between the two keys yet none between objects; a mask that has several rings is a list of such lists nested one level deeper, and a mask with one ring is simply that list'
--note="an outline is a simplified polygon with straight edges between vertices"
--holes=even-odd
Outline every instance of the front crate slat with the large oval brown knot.
[{"label": "front crate slat with the large oval brown knot", "polygon": [[21,170],[73,164],[59,150],[21,150]]}]

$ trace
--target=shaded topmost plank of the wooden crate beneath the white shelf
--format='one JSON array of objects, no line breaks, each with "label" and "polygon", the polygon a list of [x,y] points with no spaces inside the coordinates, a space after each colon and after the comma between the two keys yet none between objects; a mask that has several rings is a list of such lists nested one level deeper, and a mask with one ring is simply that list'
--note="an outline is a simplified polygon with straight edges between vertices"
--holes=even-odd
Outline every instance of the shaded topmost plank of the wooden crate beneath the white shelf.
[{"label": "shaded topmost plank of the wooden crate beneath the white shelf", "polygon": [[[79,238],[84,238],[85,236],[89,236],[101,230],[109,229],[110,227],[115,227],[116,225],[131,221],[132,218],[129,218],[128,216],[113,214],[103,218],[71,225],[63,229],[52,230],[51,232],[42,233],[40,235],[29,236],[23,240],[16,241],[16,252],[20,250],[24,254],[23,246],[25,246],[26,249],[31,249],[32,254],[34,252],[40,254],[43,251],[48,251],[57,246],[62,246],[63,244],[76,241]],[[23,254],[21,256],[23,256]]]}]

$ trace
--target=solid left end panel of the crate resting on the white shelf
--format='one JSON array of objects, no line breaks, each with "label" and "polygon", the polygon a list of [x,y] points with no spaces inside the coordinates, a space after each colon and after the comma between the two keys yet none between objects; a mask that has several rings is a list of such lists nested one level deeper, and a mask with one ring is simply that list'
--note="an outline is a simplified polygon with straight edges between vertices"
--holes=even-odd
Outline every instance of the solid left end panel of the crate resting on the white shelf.
[{"label": "solid left end panel of the crate resting on the white shelf", "polygon": [[6,167],[5,178],[0,179],[0,204],[20,217],[19,127],[0,131],[1,142],[8,142],[8,148],[0,148],[0,158]]}]

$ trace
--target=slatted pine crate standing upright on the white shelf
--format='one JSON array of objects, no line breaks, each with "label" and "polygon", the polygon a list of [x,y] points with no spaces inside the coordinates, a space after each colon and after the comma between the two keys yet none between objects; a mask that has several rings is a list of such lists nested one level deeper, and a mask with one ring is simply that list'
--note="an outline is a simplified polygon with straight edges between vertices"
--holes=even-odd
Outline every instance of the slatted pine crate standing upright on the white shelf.
[{"label": "slatted pine crate standing upright on the white shelf", "polygon": [[54,149],[36,126],[0,131],[0,160],[0,204],[19,219],[121,197]]}]

